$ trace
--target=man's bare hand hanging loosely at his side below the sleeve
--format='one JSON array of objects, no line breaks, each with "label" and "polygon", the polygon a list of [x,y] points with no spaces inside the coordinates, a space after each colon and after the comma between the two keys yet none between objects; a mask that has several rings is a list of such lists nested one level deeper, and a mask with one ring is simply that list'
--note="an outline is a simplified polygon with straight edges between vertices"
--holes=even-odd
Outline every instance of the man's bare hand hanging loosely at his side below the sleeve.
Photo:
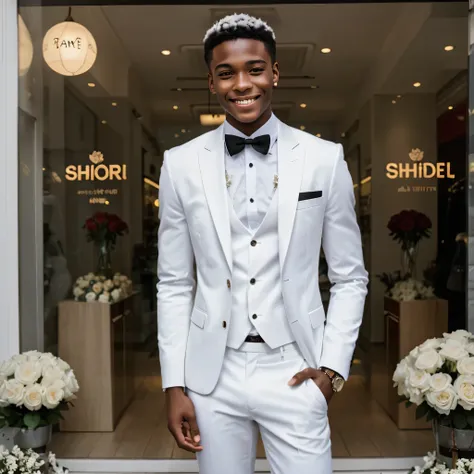
[{"label": "man's bare hand hanging loosely at his side below the sleeve", "polygon": [[177,445],[192,453],[202,451],[202,446],[199,444],[201,437],[196,422],[194,404],[184,393],[182,387],[166,389],[166,405],[168,429]]}]

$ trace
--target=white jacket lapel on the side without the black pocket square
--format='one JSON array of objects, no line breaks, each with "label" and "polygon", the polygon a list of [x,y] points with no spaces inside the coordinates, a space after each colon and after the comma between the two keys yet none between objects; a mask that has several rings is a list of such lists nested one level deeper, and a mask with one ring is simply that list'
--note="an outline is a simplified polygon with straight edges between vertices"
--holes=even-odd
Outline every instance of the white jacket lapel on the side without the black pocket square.
[{"label": "white jacket lapel on the side without the black pocket square", "polygon": [[232,270],[232,246],[225,182],[224,127],[214,130],[205,146],[199,150],[199,168],[206,194],[207,205],[224,251]]}]

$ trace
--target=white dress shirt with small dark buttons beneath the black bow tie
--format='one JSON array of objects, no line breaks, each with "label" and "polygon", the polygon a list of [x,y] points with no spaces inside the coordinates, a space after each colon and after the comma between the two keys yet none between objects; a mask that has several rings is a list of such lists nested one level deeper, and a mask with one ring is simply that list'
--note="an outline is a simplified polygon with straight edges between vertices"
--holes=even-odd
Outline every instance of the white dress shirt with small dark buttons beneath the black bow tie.
[{"label": "white dress shirt with small dark buttons beneath the black bow tie", "polygon": [[262,155],[251,145],[231,156],[225,152],[225,167],[231,181],[228,187],[234,210],[241,222],[255,230],[262,223],[274,193],[274,177],[278,173],[277,141],[278,122],[274,114],[250,137],[224,122],[224,133],[242,138],[270,135],[270,149]]}]

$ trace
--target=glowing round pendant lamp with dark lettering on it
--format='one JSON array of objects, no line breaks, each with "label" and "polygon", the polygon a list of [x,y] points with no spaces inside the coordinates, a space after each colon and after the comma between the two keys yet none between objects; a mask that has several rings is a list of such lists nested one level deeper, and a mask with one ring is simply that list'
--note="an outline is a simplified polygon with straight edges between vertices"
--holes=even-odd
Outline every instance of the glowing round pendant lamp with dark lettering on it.
[{"label": "glowing round pendant lamp with dark lettering on it", "polygon": [[87,72],[97,58],[97,44],[91,32],[71,17],[50,28],[43,39],[46,64],[63,76],[78,76]]}]

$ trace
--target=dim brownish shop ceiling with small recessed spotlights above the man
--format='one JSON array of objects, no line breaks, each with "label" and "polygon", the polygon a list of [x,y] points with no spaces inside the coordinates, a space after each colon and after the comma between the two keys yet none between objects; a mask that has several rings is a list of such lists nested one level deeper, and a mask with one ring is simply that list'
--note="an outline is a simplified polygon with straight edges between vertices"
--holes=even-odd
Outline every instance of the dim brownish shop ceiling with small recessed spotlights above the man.
[{"label": "dim brownish shop ceiling with small recessed spotlights above the man", "polygon": [[[390,54],[390,41],[392,49],[399,43],[403,51],[396,52],[400,53],[399,60],[388,80],[374,92],[413,93],[415,81],[423,83],[416,92],[437,92],[467,66],[467,8],[464,2],[434,6],[428,21],[420,20],[419,30],[407,45],[404,18],[415,21],[419,7],[397,3],[102,9],[141,76],[159,123],[186,125],[196,122],[193,108],[205,108],[208,101],[202,37],[217,18],[234,11],[256,14],[273,26],[283,76],[275,103],[285,110],[285,118],[291,122],[340,120],[384,49]],[[456,50],[444,52],[445,44],[454,44]],[[329,55],[320,53],[326,46],[332,48]],[[169,49],[172,54],[163,56],[162,49]],[[311,85],[318,88],[310,89]],[[202,90],[172,91],[175,88]],[[308,107],[301,109],[301,102]],[[174,104],[179,105],[176,112],[172,111]]]}]

